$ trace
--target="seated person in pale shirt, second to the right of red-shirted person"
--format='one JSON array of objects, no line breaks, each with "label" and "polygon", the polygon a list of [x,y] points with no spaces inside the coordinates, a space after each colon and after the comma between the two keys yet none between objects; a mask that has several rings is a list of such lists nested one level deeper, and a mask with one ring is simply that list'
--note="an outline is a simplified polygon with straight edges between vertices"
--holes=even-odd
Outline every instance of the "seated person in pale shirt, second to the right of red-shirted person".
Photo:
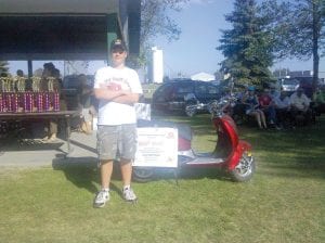
[{"label": "seated person in pale shirt, second to the right of red-shirted person", "polygon": [[311,119],[310,100],[303,93],[303,89],[299,87],[296,92],[290,95],[290,112],[296,125],[301,117],[303,123],[308,124]]}]

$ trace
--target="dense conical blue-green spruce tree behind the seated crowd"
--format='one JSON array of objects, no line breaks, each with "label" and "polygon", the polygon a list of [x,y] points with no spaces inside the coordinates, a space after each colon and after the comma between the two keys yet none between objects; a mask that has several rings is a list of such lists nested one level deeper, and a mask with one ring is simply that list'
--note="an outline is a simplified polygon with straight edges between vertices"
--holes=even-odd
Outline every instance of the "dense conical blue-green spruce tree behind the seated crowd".
[{"label": "dense conical blue-green spruce tree behind the seated crowd", "polygon": [[236,0],[234,11],[225,15],[233,28],[222,30],[221,50],[225,60],[221,72],[240,85],[262,86],[271,79],[272,44],[264,30],[265,20],[259,15],[255,0]]}]

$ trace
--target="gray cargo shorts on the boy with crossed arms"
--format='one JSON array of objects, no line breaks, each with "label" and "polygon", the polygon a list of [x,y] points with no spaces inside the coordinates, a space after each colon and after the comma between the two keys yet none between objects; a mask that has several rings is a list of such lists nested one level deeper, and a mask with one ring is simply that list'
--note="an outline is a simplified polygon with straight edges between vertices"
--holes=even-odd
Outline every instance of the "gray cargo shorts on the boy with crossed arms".
[{"label": "gray cargo shorts on the boy with crossed arms", "polygon": [[100,125],[98,128],[98,154],[100,161],[133,159],[136,151],[136,125]]}]

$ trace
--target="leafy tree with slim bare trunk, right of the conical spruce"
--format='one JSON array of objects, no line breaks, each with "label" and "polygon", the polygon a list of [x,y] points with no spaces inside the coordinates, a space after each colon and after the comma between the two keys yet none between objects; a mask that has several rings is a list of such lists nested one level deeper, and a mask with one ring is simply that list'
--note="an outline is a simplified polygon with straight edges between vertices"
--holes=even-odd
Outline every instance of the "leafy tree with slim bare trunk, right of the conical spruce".
[{"label": "leafy tree with slim bare trunk, right of the conical spruce", "polygon": [[318,80],[320,55],[325,54],[325,0],[296,0],[263,3],[271,22],[274,54],[277,59],[313,59],[313,87]]}]

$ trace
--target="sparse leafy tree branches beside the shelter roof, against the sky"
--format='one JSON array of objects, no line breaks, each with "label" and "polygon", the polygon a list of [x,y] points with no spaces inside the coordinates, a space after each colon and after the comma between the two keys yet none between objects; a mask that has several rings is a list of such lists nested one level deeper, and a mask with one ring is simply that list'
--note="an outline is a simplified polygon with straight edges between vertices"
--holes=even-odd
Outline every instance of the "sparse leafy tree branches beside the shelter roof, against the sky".
[{"label": "sparse leafy tree branches beside the shelter roof, against the sky", "polygon": [[157,36],[162,35],[169,41],[179,39],[181,29],[168,13],[181,11],[186,2],[188,0],[141,0],[140,54],[135,60],[130,60],[132,66],[146,64],[152,41]]}]

